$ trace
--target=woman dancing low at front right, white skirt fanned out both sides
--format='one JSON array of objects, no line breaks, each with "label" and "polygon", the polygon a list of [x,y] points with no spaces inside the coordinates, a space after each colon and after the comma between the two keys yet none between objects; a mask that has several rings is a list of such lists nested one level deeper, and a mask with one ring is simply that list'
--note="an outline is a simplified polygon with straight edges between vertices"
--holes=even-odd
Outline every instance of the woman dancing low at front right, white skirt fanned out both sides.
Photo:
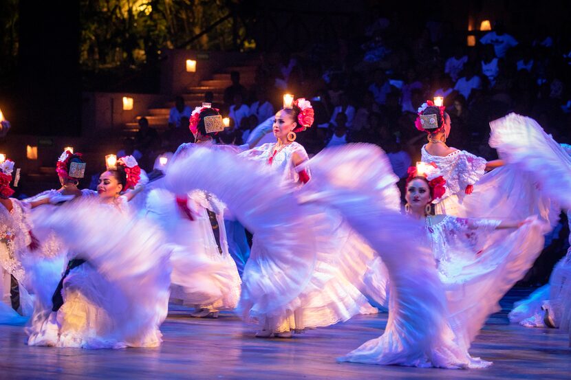
[{"label": "woman dancing low at front right, white skirt fanned out both sides", "polygon": [[[343,172],[358,168],[359,155],[348,161],[348,151],[354,147],[330,150],[312,159],[312,168],[320,178],[321,172]],[[380,165],[387,159],[378,149],[360,148],[360,157],[376,155]],[[358,153],[358,152],[357,152]],[[429,168],[432,166],[426,165]],[[387,236],[378,232],[378,226],[399,223],[394,214],[383,205],[383,197],[375,190],[377,181],[386,178],[387,168],[371,165],[367,168],[376,179],[364,181],[361,186],[348,190],[341,181],[336,186],[325,187],[314,200],[325,201],[341,210],[356,231],[363,234],[389,267],[389,322],[385,333],[363,344],[341,361],[367,364],[399,364],[404,366],[442,368],[481,368],[489,363],[468,354],[468,348],[486,317],[497,308],[499,298],[524,275],[541,251],[541,224],[530,219],[528,223],[506,223],[504,221],[459,219],[454,216],[430,216],[427,206],[434,197],[443,194],[443,179],[434,170],[421,173],[411,170],[407,181],[407,210],[414,220],[420,222],[421,230],[416,241],[431,247],[437,265],[426,265],[427,256],[420,249],[420,262],[415,260],[394,260],[386,251]],[[329,174],[328,174],[329,175]],[[331,176],[331,175],[330,175]],[[385,224],[381,224],[384,222]],[[519,226],[519,227],[518,227]],[[517,227],[510,232],[504,228]],[[393,231],[391,238],[406,244],[409,231]],[[502,234],[490,244],[488,236]],[[383,241],[383,237],[385,241]],[[402,238],[401,238],[402,237]],[[403,239],[405,238],[405,239]],[[424,240],[427,238],[428,240]],[[396,243],[392,243],[395,245]],[[389,244],[388,247],[391,247]],[[404,250],[401,251],[404,252]],[[477,260],[466,260],[463,265],[456,261],[449,265],[447,258],[472,256]],[[416,254],[416,253],[415,253]],[[407,252],[405,252],[405,257]],[[434,261],[433,261],[434,262]],[[412,269],[410,268],[412,267]],[[424,272],[424,273],[422,273]],[[435,277],[438,275],[438,277]],[[435,282],[435,280],[438,281]],[[432,289],[430,292],[427,289]],[[420,292],[420,293],[418,293]],[[428,296],[427,296],[428,293]],[[439,301],[445,295],[443,304]],[[428,320],[427,320],[428,317]]]}]

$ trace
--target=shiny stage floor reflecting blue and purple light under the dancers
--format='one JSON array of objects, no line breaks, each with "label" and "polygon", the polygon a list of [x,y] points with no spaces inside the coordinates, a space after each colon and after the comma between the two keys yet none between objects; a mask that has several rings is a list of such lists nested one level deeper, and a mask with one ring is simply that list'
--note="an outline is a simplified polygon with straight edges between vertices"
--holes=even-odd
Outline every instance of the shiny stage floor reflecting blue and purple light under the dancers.
[{"label": "shiny stage floor reflecting blue and purple light under the dancers", "polygon": [[439,370],[337,364],[383,333],[387,314],[363,315],[293,339],[259,339],[231,314],[188,317],[180,306],[162,325],[160,348],[81,350],[28,347],[19,326],[0,326],[0,379],[570,379],[569,336],[508,324],[507,311],[530,292],[513,289],[473,344],[471,354],[494,362],[484,370]]}]

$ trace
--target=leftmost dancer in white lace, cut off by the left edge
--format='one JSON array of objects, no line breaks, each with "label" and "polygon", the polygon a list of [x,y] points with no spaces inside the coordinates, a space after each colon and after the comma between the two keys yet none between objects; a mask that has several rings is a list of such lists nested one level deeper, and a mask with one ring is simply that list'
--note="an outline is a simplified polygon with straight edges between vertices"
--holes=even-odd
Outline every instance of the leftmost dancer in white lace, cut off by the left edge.
[{"label": "leftmost dancer in white lace, cut off by the left edge", "polygon": [[[0,323],[23,324],[27,317],[22,317],[14,310],[10,290],[17,282],[20,294],[20,306],[23,315],[31,314],[31,302],[28,292],[25,291],[25,270],[22,260],[33,249],[35,242],[32,239],[31,225],[28,221],[28,208],[25,203],[10,198],[14,190],[10,188],[14,161],[6,159],[0,163]],[[26,297],[27,296],[27,297]],[[16,307],[15,309],[19,309]]]}]

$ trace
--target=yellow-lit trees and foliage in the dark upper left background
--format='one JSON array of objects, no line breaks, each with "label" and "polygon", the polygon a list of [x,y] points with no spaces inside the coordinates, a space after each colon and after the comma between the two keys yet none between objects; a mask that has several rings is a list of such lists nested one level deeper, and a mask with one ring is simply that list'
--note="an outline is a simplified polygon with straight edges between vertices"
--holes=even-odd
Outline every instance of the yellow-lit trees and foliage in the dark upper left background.
[{"label": "yellow-lit trees and foliage in the dark upper left background", "polygon": [[[230,5],[224,0],[81,0],[80,63],[95,71],[152,63],[161,49],[182,47],[226,16]],[[232,48],[231,19],[186,47]]]}]

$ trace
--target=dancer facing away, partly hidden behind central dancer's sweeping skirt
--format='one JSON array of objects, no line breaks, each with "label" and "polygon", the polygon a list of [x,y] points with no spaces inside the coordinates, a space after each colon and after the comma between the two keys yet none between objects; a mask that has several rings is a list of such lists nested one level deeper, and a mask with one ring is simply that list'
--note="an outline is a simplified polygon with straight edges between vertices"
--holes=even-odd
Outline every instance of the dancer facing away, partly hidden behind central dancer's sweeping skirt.
[{"label": "dancer facing away, partly hidden behind central dancer's sweeping skirt", "polygon": [[[196,107],[189,125],[194,143],[182,144],[171,162],[186,157],[197,146],[213,147],[213,135],[224,130],[222,116],[213,108]],[[230,151],[237,147],[216,146]],[[170,165],[170,163],[169,163]],[[224,228],[224,203],[203,190],[174,193],[157,188],[147,197],[147,216],[164,231],[170,243],[177,246],[171,256],[171,298],[195,306],[193,317],[218,317],[221,310],[235,309],[241,280],[235,260],[228,253]],[[210,262],[211,270],[197,271],[194,265],[200,260],[204,268]],[[208,265],[206,265],[208,267]],[[200,272],[200,276],[197,273]],[[190,273],[195,273],[191,276]],[[196,291],[203,283],[215,284],[204,291]]]}]

